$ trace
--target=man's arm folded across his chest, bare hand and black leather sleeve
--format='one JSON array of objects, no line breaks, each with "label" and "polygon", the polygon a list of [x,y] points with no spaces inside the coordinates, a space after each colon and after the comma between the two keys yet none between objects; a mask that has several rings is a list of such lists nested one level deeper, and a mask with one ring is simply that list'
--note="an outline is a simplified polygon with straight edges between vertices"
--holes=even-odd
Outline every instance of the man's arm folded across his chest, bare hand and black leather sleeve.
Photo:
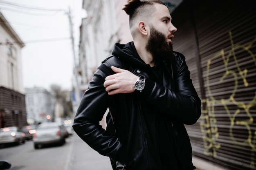
[{"label": "man's arm folded across his chest, bare hand and black leather sleeve", "polygon": [[[121,68],[113,66],[111,68],[116,74],[106,77],[104,82],[108,94],[134,92],[133,84],[138,76]],[[176,91],[173,91],[146,78],[146,86],[139,95],[160,112],[171,114],[174,119],[183,124],[195,124],[201,115],[201,100],[192,84],[185,57],[182,54],[177,59],[175,87]]]}]

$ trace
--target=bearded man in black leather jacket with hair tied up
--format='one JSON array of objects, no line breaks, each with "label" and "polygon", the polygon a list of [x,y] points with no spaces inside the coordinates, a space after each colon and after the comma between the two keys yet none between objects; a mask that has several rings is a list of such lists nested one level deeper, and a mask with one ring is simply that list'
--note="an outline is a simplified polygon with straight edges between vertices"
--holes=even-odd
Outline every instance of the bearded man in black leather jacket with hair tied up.
[{"label": "bearded man in black leather jacket with hair tied up", "polygon": [[[94,73],[74,118],[75,132],[113,170],[193,170],[184,124],[201,115],[201,101],[181,53],[173,52],[177,29],[159,0],[130,0],[133,42],[115,44]],[[107,108],[108,126],[100,125]]]}]

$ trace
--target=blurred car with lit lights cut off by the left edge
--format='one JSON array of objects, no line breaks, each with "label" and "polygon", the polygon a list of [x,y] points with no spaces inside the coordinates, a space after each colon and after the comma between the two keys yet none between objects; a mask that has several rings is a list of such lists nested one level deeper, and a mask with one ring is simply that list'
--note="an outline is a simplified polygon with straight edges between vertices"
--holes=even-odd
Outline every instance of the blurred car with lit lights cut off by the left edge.
[{"label": "blurred car with lit lights cut off by the left edge", "polygon": [[25,133],[17,126],[0,128],[0,144],[24,144]]}]

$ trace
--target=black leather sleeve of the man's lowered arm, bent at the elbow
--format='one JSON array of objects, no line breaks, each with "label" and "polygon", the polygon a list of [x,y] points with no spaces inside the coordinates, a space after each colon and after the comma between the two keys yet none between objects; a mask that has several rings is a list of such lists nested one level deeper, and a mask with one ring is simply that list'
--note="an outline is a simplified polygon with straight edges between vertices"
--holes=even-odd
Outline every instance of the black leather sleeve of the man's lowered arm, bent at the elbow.
[{"label": "black leather sleeve of the man's lowered arm, bent at the elbow", "polygon": [[99,69],[94,73],[74,117],[73,128],[91,148],[115,160],[122,144],[99,124],[108,108],[109,95],[103,86],[105,77]]}]

